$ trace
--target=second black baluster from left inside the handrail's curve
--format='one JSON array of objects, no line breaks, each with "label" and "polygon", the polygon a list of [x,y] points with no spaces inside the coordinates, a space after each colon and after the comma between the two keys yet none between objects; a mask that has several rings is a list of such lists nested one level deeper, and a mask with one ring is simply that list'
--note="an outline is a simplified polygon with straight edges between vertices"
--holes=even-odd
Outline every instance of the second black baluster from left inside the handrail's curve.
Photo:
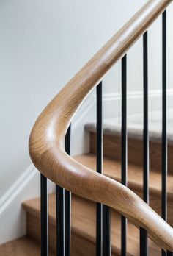
[{"label": "second black baluster from left inside the handrail's curve", "polygon": [[[102,82],[97,85],[97,172],[103,172]],[[103,205],[96,205],[96,255],[102,256]]]}]

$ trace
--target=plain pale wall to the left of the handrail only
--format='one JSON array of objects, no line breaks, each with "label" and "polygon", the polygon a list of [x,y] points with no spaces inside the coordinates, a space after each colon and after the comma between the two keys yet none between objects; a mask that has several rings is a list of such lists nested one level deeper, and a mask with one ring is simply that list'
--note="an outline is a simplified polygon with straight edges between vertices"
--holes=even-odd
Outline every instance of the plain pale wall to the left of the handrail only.
[{"label": "plain pale wall to the left of the handrail only", "polygon": [[31,163],[29,132],[45,104],[143,3],[0,1],[0,196]]}]

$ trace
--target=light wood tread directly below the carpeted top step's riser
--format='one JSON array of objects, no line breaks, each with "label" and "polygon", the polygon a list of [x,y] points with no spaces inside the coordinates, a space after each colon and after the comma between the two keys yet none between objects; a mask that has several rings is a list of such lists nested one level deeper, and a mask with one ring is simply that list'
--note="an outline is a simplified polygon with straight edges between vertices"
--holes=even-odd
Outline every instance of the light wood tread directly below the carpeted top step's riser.
[{"label": "light wood tread directly below the carpeted top step's riser", "polygon": [[[94,154],[82,154],[74,157],[78,162],[96,169],[96,157]],[[120,182],[121,163],[117,160],[105,157],[103,159],[103,174]],[[128,163],[128,187],[130,189],[141,191],[143,180],[143,169],[141,166]],[[150,170],[150,193],[161,196],[161,174],[155,169]],[[167,177],[167,195],[169,200],[173,200],[173,176]]]}]

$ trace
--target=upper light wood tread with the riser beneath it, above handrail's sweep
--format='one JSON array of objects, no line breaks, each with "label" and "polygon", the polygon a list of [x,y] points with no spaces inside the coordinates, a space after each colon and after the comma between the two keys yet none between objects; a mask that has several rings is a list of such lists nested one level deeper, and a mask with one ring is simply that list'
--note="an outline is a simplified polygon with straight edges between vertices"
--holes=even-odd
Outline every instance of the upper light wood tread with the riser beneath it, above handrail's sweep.
[{"label": "upper light wood tread with the riser beneath it, above handrail's sweep", "polygon": [[[96,169],[96,157],[94,154],[83,154],[74,157],[84,166],[88,166],[93,170]],[[103,159],[103,174],[121,182],[121,163],[111,158]],[[137,193],[142,198],[143,192],[143,168],[128,164],[128,188]],[[150,189],[150,206],[158,214],[161,215],[161,174],[155,169],[150,170],[149,177]],[[168,222],[173,227],[173,177],[168,175],[167,178],[167,194],[168,194]]]}]

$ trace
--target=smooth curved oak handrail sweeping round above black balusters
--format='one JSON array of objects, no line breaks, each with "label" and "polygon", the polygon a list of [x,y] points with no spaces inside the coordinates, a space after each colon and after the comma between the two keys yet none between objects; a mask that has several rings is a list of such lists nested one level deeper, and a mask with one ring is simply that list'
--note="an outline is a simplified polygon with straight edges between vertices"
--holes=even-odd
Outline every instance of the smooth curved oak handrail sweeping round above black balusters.
[{"label": "smooth curved oak handrail sweeping round above black balusters", "polygon": [[29,152],[37,169],[68,191],[113,207],[163,249],[173,251],[173,229],[124,185],[81,165],[64,149],[65,133],[73,115],[114,63],[148,29],[171,0],[150,0],[76,74],[37,118]]}]

